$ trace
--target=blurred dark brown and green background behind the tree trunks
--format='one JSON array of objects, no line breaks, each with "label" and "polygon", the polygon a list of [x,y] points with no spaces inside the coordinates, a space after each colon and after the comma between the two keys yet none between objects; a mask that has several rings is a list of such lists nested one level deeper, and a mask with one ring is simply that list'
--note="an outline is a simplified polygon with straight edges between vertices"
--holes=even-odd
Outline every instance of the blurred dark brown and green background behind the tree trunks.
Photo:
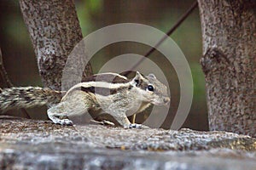
[{"label": "blurred dark brown and green background behind the tree trunks", "polygon": [[[154,26],[160,31],[168,31],[191,6],[194,0],[76,0],[76,8],[84,37],[103,26],[117,23],[140,23]],[[18,0],[1,0],[0,2],[0,47],[3,64],[9,78],[15,86],[43,86],[38,75],[37,60],[32,42],[20,13]],[[201,25],[198,8],[172,34],[172,39],[183,51],[192,71],[194,81],[194,99],[189,116],[183,127],[196,130],[208,130],[207,104],[204,75],[201,71]],[[160,37],[159,37],[160,38]],[[94,73],[104,63],[120,54],[146,54],[147,45],[136,42],[119,42],[102,48],[90,60]],[[171,84],[172,103],[169,115],[162,127],[169,128],[177,111],[179,102],[179,83],[172,65],[163,65],[165,58],[158,52],[151,54],[152,59],[166,75]],[[0,87],[3,88],[3,82]],[[47,119],[45,108],[42,111],[30,110],[35,119]],[[39,113],[38,113],[39,112]],[[20,114],[9,111],[9,114]]]}]

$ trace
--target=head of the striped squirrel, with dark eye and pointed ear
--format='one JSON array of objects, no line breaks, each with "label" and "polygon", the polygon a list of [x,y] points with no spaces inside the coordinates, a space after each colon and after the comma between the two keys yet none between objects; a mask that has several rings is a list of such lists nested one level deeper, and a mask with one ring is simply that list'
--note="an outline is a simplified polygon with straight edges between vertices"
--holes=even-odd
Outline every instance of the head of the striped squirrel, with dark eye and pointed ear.
[{"label": "head of the striped squirrel, with dark eye and pointed ear", "polygon": [[144,77],[137,71],[136,76],[131,80],[131,84],[137,87],[137,95],[143,102],[153,105],[167,105],[170,102],[166,85],[157,80],[154,74]]}]

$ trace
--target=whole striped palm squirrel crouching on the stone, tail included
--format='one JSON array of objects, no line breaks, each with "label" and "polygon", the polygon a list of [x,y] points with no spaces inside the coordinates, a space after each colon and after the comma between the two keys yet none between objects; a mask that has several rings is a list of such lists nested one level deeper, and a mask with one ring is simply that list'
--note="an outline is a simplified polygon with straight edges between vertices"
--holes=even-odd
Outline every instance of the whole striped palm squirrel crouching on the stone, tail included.
[{"label": "whole striped palm squirrel crouching on the stone, tail included", "polygon": [[167,105],[170,101],[166,86],[154,74],[145,77],[138,71],[132,79],[110,72],[96,74],[74,85],[63,97],[62,94],[49,88],[3,88],[0,111],[51,105],[47,114],[57,124],[73,125],[68,116],[89,113],[95,120],[111,116],[111,121],[131,128],[140,125],[131,123],[126,114],[136,116],[149,105]]}]

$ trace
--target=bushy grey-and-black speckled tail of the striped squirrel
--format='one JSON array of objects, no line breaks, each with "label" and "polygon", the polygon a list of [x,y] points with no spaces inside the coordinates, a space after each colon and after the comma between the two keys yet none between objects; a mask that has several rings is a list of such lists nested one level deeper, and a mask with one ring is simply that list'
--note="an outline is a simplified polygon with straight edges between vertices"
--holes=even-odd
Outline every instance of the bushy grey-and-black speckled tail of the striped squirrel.
[{"label": "bushy grey-and-black speckled tail of the striped squirrel", "polygon": [[49,88],[0,88],[0,112],[11,109],[55,104],[61,101],[61,92]]}]

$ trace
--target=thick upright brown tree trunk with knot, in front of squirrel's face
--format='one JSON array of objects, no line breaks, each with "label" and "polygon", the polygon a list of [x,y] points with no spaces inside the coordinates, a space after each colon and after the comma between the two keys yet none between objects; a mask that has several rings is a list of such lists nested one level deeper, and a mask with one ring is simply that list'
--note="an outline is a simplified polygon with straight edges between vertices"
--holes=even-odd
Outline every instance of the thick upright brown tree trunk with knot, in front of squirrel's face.
[{"label": "thick upright brown tree trunk with knot, in front of squirrel's face", "polygon": [[198,3],[210,129],[256,137],[256,3]]}]

